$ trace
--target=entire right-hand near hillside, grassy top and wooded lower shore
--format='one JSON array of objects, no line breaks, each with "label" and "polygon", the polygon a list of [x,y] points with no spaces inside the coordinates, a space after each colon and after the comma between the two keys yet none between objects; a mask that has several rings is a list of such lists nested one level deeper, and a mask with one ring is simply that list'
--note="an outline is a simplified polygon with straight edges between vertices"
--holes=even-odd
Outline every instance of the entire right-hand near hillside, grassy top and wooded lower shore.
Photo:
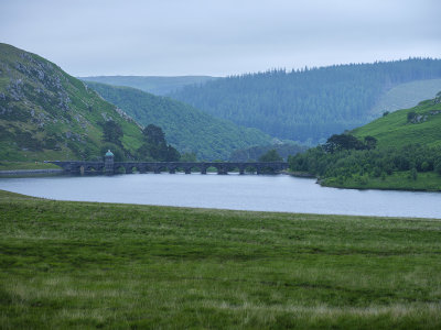
[{"label": "entire right-hand near hillside, grassy top and wooded lower shore", "polygon": [[325,186],[441,191],[441,92],[290,157]]}]

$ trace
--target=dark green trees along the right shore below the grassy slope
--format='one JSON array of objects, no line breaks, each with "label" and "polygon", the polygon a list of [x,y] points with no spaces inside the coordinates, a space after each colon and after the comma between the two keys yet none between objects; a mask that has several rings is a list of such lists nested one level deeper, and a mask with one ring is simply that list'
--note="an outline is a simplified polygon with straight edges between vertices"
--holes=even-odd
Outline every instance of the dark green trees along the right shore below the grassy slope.
[{"label": "dark green trees along the right shore below the grassy slope", "polygon": [[423,172],[441,175],[440,146],[410,144],[377,148],[373,139],[333,135],[323,145],[290,156],[290,169],[341,182],[362,176],[385,178],[395,172],[409,172],[412,178]]}]

